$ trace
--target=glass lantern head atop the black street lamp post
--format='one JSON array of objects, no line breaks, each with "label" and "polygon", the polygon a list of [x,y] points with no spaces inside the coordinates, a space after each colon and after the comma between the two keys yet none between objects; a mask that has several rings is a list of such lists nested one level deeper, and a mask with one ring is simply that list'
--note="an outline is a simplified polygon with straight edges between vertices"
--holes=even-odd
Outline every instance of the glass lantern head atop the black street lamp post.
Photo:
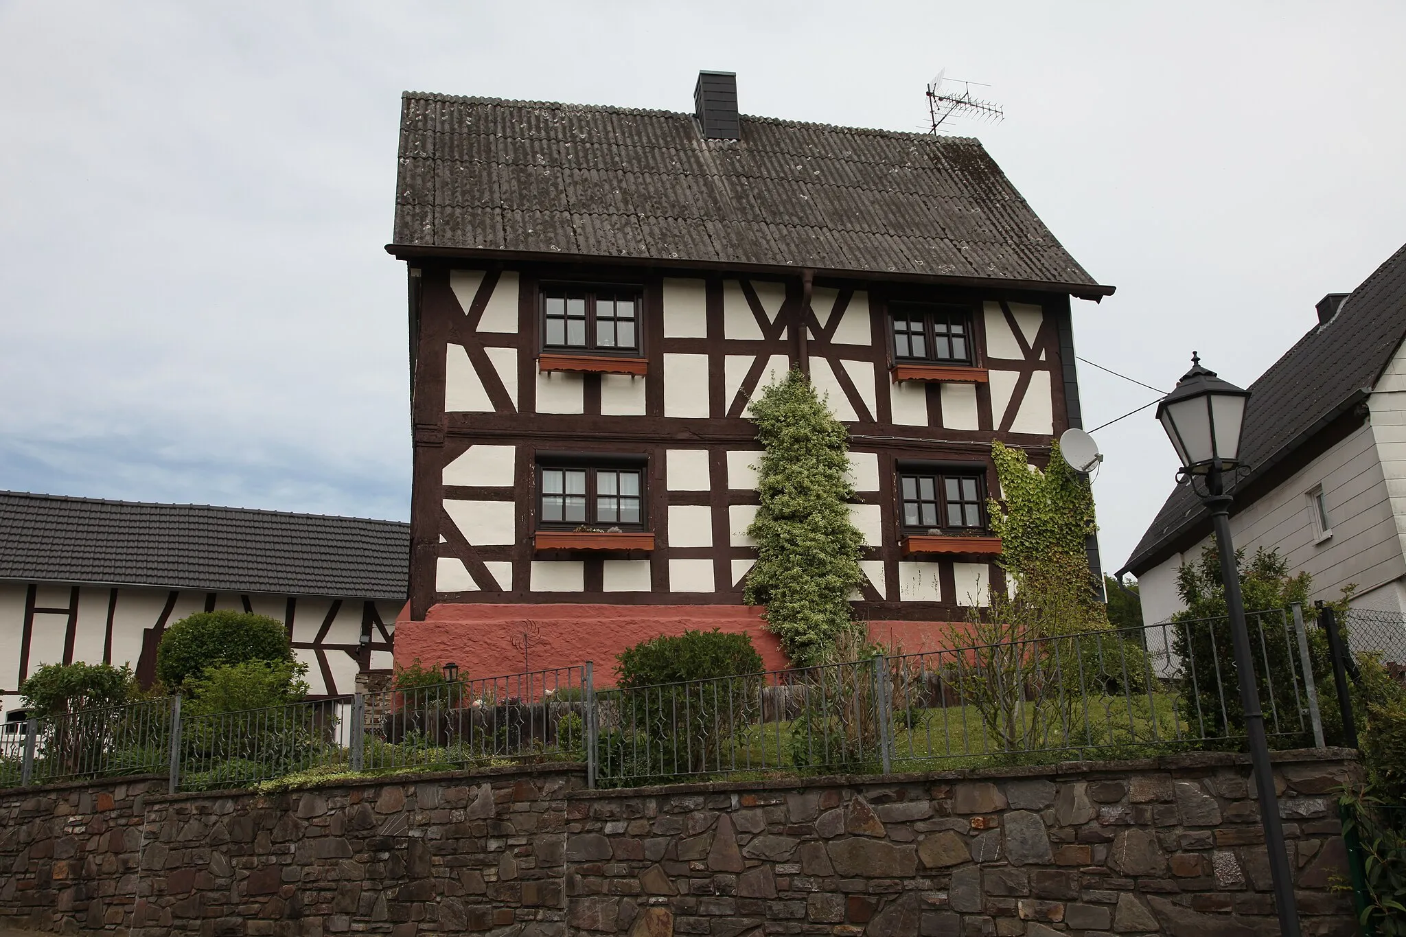
[{"label": "glass lantern head atop the black street lamp post", "polygon": [[1240,431],[1249,399],[1249,391],[1222,381],[1191,353],[1191,371],[1157,405],[1157,419],[1187,475],[1234,471],[1240,464]]}]

